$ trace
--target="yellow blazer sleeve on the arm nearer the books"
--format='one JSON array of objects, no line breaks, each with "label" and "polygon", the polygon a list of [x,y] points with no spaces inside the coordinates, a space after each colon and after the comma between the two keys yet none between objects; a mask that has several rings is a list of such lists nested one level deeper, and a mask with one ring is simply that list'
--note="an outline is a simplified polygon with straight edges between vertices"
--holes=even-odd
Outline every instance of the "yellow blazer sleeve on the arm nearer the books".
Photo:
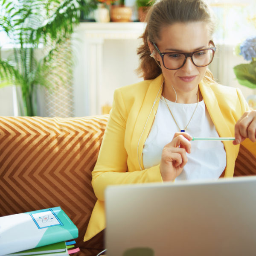
[{"label": "yellow blazer sleeve on the arm nearer the books", "polygon": [[125,149],[125,130],[129,125],[127,105],[131,106],[131,102],[128,99],[124,101],[122,93],[117,89],[99,156],[92,172],[93,190],[101,201],[104,201],[104,191],[109,185],[163,182],[160,165],[144,170],[128,170],[128,154]]}]

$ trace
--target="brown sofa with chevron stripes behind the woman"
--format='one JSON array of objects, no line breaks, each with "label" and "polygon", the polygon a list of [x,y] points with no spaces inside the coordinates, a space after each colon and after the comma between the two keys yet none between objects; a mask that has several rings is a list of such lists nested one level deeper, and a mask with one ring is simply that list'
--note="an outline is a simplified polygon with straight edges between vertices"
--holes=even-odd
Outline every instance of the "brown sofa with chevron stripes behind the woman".
[{"label": "brown sofa with chevron stripes behind the woman", "polygon": [[[79,229],[74,256],[96,256],[104,232],[83,242],[96,202],[91,172],[108,115],[0,116],[0,216],[60,206]],[[241,145],[235,176],[254,175],[256,156]]]}]

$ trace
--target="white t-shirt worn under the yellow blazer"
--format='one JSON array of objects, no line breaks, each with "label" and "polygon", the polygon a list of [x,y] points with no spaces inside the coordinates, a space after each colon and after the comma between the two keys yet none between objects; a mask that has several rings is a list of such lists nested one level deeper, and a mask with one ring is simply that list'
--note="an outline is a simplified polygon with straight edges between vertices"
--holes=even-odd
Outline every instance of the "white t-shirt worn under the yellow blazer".
[{"label": "white t-shirt worn under the yellow blazer", "polygon": [[[181,104],[166,99],[180,129],[184,129],[195,110],[197,103]],[[179,128],[161,96],[157,113],[143,148],[144,168],[160,163],[163,147],[172,141]],[[219,137],[209,116],[204,100],[191,119],[186,132],[192,137]],[[214,179],[220,177],[226,167],[226,152],[221,141],[191,141],[191,153],[188,162],[176,180]]]}]

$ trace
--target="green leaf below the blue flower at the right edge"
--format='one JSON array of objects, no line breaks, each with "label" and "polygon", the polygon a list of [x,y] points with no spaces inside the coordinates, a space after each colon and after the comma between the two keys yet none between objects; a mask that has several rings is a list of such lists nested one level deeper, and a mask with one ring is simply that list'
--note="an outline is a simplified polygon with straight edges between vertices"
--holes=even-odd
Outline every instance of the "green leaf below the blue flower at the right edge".
[{"label": "green leaf below the blue flower at the right edge", "polygon": [[256,61],[250,64],[240,64],[233,68],[239,84],[256,88]]}]

